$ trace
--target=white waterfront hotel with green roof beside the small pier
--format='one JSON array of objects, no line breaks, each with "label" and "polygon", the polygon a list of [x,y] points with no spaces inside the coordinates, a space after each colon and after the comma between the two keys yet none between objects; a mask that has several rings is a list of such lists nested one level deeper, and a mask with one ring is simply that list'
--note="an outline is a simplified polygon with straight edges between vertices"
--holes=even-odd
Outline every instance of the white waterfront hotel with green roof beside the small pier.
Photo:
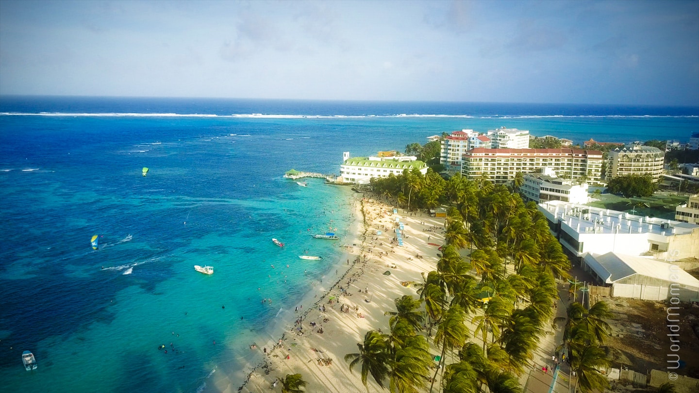
[{"label": "white waterfront hotel with green roof beside the small pier", "polygon": [[[345,183],[368,184],[371,178],[387,178],[391,173],[398,176],[405,169],[418,169],[423,175],[427,173],[427,164],[417,161],[415,156],[401,157],[348,157],[345,152],[340,176]],[[345,158],[346,157],[346,158]]]}]

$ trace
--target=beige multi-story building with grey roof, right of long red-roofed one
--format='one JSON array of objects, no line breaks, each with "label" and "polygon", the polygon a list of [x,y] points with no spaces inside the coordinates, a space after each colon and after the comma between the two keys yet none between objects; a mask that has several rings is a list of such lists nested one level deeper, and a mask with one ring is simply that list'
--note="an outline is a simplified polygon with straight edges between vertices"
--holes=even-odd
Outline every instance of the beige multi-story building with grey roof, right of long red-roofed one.
[{"label": "beige multi-story building with grey roof, right of long red-roofed one", "polygon": [[605,180],[617,176],[650,175],[657,181],[663,173],[665,153],[658,148],[640,144],[626,145],[609,152]]}]

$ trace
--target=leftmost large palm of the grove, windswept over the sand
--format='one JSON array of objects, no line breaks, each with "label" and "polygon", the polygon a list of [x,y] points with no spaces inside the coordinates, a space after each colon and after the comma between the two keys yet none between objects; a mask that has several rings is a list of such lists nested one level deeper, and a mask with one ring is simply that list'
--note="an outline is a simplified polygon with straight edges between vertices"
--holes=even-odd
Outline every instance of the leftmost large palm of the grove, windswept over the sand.
[{"label": "leftmost large palm of the grove, windswept over the sand", "polygon": [[349,353],[345,355],[345,362],[349,363],[349,371],[352,371],[354,366],[361,363],[361,383],[369,392],[369,387],[366,383],[366,378],[369,374],[374,378],[376,383],[383,389],[384,381],[389,375],[389,362],[391,362],[391,354],[389,351],[389,343],[384,335],[378,331],[370,330],[364,335],[364,342],[357,343],[359,353]]}]

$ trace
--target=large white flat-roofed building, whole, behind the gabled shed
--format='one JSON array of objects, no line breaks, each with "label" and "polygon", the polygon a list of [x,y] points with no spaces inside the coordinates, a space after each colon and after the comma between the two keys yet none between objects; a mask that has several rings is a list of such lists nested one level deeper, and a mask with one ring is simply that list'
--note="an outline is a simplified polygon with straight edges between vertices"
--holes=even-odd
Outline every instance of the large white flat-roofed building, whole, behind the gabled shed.
[{"label": "large white flat-roofed building, whole, behind the gabled shed", "polygon": [[563,201],[539,203],[538,207],[563,248],[577,257],[588,252],[656,259],[699,257],[699,225]]}]

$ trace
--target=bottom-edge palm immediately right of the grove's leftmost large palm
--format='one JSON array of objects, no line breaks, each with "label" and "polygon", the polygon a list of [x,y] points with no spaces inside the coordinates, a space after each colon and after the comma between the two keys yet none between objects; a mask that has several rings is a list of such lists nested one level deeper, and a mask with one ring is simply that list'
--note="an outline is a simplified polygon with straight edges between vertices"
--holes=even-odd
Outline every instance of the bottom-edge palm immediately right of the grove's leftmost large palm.
[{"label": "bottom-edge palm immediately right of the grove's leftmost large palm", "polygon": [[424,390],[432,359],[424,336],[412,336],[396,350],[389,372],[389,392],[418,393]]}]

